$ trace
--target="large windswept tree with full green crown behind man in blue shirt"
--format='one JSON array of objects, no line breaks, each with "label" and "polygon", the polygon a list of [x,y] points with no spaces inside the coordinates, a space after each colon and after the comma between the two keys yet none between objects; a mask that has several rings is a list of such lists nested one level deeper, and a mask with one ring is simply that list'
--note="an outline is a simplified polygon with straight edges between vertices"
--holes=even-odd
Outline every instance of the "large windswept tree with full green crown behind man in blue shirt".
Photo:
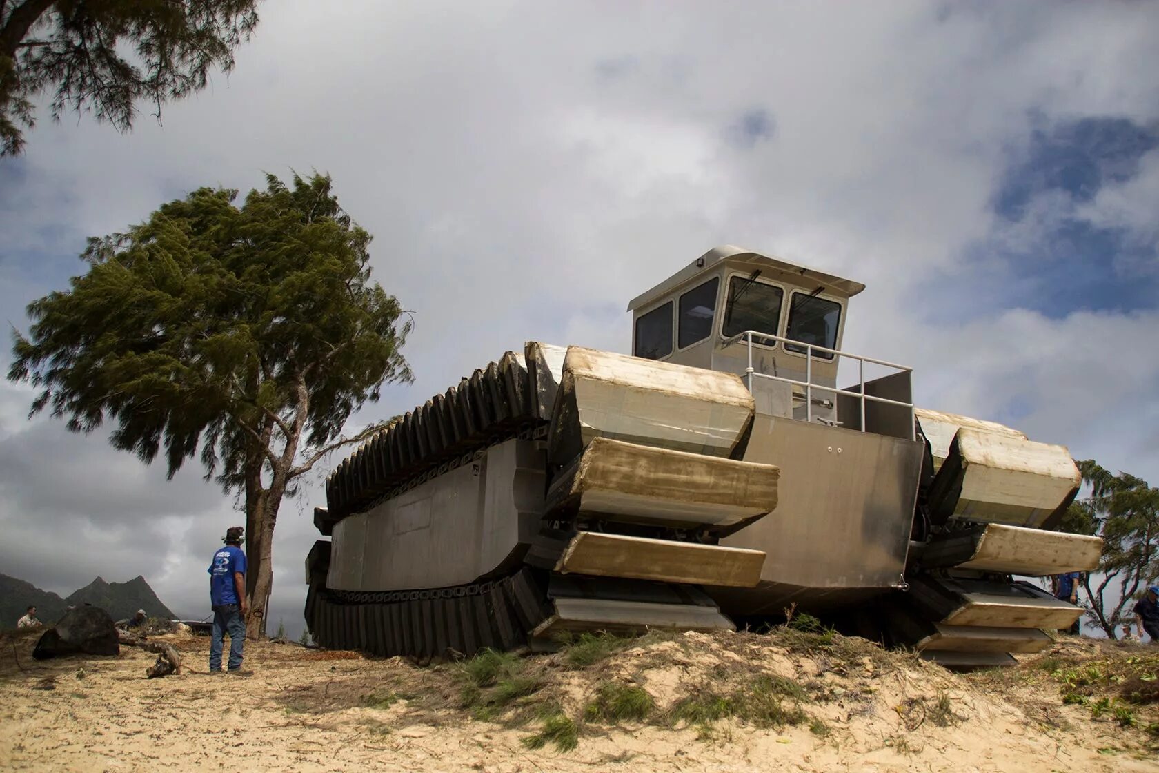
[{"label": "large windswept tree with full green crown behind man in blue shirt", "polygon": [[90,239],[88,271],[28,307],[8,378],[41,389],[70,430],[109,439],[172,477],[199,454],[245,502],[250,635],[264,632],[283,497],[347,437],[384,384],[409,381],[399,301],[370,279],[371,236],[329,176],[267,177],[239,207],[203,188],[123,234]]}]

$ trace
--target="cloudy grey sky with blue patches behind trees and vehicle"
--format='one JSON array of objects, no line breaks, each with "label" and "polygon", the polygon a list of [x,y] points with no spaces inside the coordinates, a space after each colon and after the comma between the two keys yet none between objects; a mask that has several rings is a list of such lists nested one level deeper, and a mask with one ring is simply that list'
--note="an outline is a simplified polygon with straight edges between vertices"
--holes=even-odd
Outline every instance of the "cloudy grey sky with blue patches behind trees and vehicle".
[{"label": "cloudy grey sky with blue patches behind trees and vehicle", "polygon": [[[1154,483],[1157,34],[1144,2],[278,0],[162,124],[45,116],[0,160],[0,309],[27,329],[86,236],[165,200],[318,169],[417,326],[415,385],[358,423],[529,338],[626,351],[629,298],[736,243],[863,282],[845,348],[913,365],[920,404]],[[0,573],[144,574],[206,614],[232,497],[27,421],[31,394],[0,382]],[[278,522],[292,632],[322,499]]]}]

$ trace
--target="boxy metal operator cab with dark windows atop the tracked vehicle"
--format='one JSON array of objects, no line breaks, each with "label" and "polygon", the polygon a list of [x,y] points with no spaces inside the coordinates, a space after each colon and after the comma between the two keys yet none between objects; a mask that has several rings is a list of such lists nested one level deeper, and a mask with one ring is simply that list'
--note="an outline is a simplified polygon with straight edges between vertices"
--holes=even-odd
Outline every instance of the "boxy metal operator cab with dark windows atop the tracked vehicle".
[{"label": "boxy metal operator cab with dark windows atop the tracked vehicle", "polygon": [[[632,353],[745,375],[764,414],[912,437],[912,418],[890,410],[899,406],[873,399],[909,403],[909,369],[840,352],[850,298],[862,290],[860,282],[726,245],[628,304]],[[845,357],[858,360],[859,375],[867,362],[896,371],[867,382],[863,409],[863,378],[837,389]],[[889,421],[874,421],[882,414]]]}]

